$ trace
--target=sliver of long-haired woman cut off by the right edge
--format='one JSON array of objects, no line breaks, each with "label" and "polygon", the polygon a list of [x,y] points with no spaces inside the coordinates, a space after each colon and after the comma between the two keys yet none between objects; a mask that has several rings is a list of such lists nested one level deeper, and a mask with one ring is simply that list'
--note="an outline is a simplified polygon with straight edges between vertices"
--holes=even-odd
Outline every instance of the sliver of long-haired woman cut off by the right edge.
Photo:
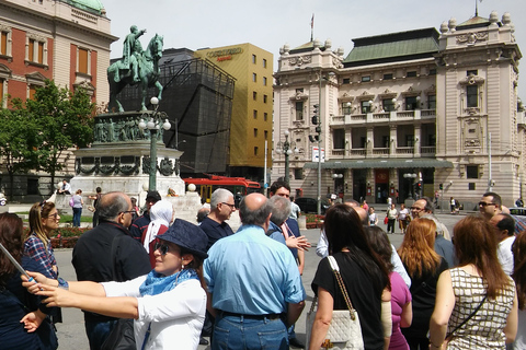
[{"label": "sliver of long-haired woman cut off by the right edge", "polygon": [[517,234],[512,252],[515,262],[512,277],[517,288],[518,301],[518,330],[513,349],[519,350],[526,349],[526,231]]}]

